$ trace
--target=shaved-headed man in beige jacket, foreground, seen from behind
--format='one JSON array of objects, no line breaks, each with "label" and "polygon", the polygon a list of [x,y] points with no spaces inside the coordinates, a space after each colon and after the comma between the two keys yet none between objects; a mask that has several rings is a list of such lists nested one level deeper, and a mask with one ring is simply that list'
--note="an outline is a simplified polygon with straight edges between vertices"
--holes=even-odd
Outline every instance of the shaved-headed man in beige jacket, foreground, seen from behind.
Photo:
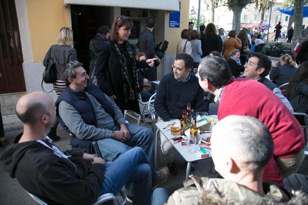
[{"label": "shaved-headed man in beige jacket, foreground, seen from behind", "polygon": [[[191,176],[167,204],[305,204],[304,193],[262,181],[265,166],[273,159],[274,143],[268,128],[250,116],[227,116],[211,136],[215,169],[224,179]],[[195,185],[195,186],[192,186]],[[301,203],[300,203],[301,202]]]}]

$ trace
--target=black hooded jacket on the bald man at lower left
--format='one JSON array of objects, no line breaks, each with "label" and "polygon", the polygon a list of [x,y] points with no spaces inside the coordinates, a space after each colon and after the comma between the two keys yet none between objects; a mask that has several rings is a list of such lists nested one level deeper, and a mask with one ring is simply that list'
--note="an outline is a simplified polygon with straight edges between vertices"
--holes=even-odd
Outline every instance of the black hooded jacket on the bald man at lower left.
[{"label": "black hooded jacket on the bald man at lower left", "polygon": [[104,164],[92,165],[82,158],[83,151],[68,151],[69,160],[59,157],[36,141],[18,143],[21,136],[0,153],[0,160],[26,191],[47,204],[92,204],[101,195]]}]

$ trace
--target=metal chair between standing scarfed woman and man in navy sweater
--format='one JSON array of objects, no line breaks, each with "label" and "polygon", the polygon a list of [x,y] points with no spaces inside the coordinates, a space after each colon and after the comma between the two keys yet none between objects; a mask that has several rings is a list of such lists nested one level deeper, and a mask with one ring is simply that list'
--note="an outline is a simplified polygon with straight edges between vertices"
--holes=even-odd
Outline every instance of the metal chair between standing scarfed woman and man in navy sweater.
[{"label": "metal chair between standing scarfed woman and man in navy sweater", "polygon": [[124,119],[126,117],[126,115],[134,118],[135,120],[137,120],[137,125],[140,124],[140,121],[141,121],[141,116],[143,118],[143,123],[145,125],[145,116],[148,115],[148,110],[151,110],[151,111],[154,111],[154,100],[151,100],[151,98],[149,99],[148,102],[143,102],[142,101],[142,98],[141,98],[141,95],[139,94],[138,95],[139,99],[138,99],[138,102],[139,102],[139,108],[140,108],[140,114],[134,112],[134,115],[130,114],[127,112],[127,110],[124,111]]}]

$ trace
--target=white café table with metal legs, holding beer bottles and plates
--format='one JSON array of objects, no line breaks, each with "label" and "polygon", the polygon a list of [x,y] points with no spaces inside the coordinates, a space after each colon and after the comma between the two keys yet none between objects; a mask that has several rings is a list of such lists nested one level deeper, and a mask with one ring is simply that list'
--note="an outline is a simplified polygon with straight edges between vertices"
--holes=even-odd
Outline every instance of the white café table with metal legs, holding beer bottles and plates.
[{"label": "white caf\u00e9 table with metal legs, holding beer bottles and plates", "polygon": [[[217,115],[209,115],[206,116],[207,119],[209,118],[213,118],[213,119],[218,119]],[[173,135],[171,135],[170,129],[166,128],[166,122],[159,122],[156,123],[156,127],[158,128],[156,133],[155,133],[155,144],[156,144],[156,152],[155,152],[155,167],[157,167],[157,160],[158,160],[158,133],[162,132],[164,136],[160,136],[160,137],[166,137],[169,141],[170,138],[175,137]],[[171,143],[171,142],[169,142]],[[202,142],[201,142],[202,143]],[[205,148],[206,152],[209,153],[209,157],[205,157],[205,158],[201,158],[201,156],[198,154],[197,152],[197,148],[200,148],[199,144],[195,144],[195,145],[185,145],[182,146],[181,142],[178,142],[176,144],[172,144],[173,147],[176,149],[177,152],[180,153],[180,155],[184,158],[184,160],[187,162],[187,167],[186,167],[186,179],[188,179],[189,176],[189,172],[190,172],[190,168],[191,168],[191,163],[194,161],[199,161],[199,160],[204,160],[207,159],[209,157],[212,157],[211,152],[212,150],[210,149],[210,145],[209,144],[202,144],[202,147]],[[194,148],[195,152],[193,154],[188,153],[188,149],[190,148]]]}]

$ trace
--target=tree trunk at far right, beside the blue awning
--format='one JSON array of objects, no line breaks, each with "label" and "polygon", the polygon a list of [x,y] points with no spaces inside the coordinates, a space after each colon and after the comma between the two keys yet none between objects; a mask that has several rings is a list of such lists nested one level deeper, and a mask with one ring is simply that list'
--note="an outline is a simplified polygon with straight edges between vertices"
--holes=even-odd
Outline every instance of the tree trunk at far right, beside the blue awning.
[{"label": "tree trunk at far right, beside the blue awning", "polygon": [[300,42],[302,39],[303,7],[304,0],[294,0],[293,47],[295,47],[296,42]]}]

